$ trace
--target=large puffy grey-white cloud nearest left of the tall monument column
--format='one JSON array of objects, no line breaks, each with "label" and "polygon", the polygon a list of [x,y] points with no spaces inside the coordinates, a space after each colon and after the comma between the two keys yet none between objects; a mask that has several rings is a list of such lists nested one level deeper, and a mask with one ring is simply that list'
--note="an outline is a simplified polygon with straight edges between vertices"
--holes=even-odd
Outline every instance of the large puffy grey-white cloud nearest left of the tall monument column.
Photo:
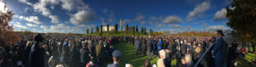
[{"label": "large puffy grey-white cloud nearest left of the tall monument column", "polygon": [[89,11],[79,11],[71,16],[69,20],[73,25],[84,25],[90,21],[94,21],[94,14]]}]

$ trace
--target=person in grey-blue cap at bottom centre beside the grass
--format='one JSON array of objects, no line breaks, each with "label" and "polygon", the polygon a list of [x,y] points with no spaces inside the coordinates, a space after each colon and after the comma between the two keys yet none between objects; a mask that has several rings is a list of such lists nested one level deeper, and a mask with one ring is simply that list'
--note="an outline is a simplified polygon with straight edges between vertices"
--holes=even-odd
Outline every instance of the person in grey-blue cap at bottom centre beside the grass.
[{"label": "person in grey-blue cap at bottom centre beside the grass", "polygon": [[112,53],[113,55],[113,64],[108,64],[108,67],[119,67],[119,61],[120,61],[120,56],[121,52],[119,50],[115,50]]}]

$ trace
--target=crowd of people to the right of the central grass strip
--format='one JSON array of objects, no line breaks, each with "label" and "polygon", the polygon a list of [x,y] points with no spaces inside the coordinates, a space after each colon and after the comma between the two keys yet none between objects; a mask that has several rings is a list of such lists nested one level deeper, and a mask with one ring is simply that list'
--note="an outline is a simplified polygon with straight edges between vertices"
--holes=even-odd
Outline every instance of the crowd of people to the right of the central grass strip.
[{"label": "crowd of people to the right of the central grass strip", "polygon": [[[149,58],[158,55],[158,67],[171,67],[173,59],[177,59],[177,66],[182,64],[183,67],[235,67],[236,59],[244,57],[248,48],[244,43],[238,47],[237,41],[224,41],[223,31],[217,31],[217,36],[212,37],[128,36],[125,41],[136,47],[137,55]],[[252,46],[255,47],[254,43]]]}]

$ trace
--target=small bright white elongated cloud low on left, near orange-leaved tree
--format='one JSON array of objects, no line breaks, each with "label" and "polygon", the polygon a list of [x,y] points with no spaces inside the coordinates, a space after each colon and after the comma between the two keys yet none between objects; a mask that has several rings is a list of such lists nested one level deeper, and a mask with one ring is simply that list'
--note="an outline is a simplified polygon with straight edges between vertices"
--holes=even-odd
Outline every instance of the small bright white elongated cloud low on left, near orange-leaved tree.
[{"label": "small bright white elongated cloud low on left, near orange-leaved tree", "polygon": [[29,17],[25,17],[25,16],[19,16],[20,20],[26,20],[28,22],[32,22],[35,23],[37,25],[41,24],[41,22],[38,19],[38,16],[29,16]]}]

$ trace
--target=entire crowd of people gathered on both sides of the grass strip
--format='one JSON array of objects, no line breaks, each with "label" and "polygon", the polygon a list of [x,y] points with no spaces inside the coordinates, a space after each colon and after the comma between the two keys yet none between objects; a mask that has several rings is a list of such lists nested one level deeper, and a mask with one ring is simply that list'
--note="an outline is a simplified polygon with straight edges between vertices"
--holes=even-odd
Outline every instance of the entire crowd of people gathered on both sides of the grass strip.
[{"label": "entire crowd of people gathered on both sides of the grass strip", "polygon": [[212,37],[20,35],[17,44],[0,47],[0,67],[119,67],[121,53],[113,48],[119,41],[136,47],[137,55],[148,55],[144,67],[154,66],[155,55],[157,67],[171,67],[173,59],[183,67],[234,67],[246,50],[225,43],[223,36],[222,31]]}]

